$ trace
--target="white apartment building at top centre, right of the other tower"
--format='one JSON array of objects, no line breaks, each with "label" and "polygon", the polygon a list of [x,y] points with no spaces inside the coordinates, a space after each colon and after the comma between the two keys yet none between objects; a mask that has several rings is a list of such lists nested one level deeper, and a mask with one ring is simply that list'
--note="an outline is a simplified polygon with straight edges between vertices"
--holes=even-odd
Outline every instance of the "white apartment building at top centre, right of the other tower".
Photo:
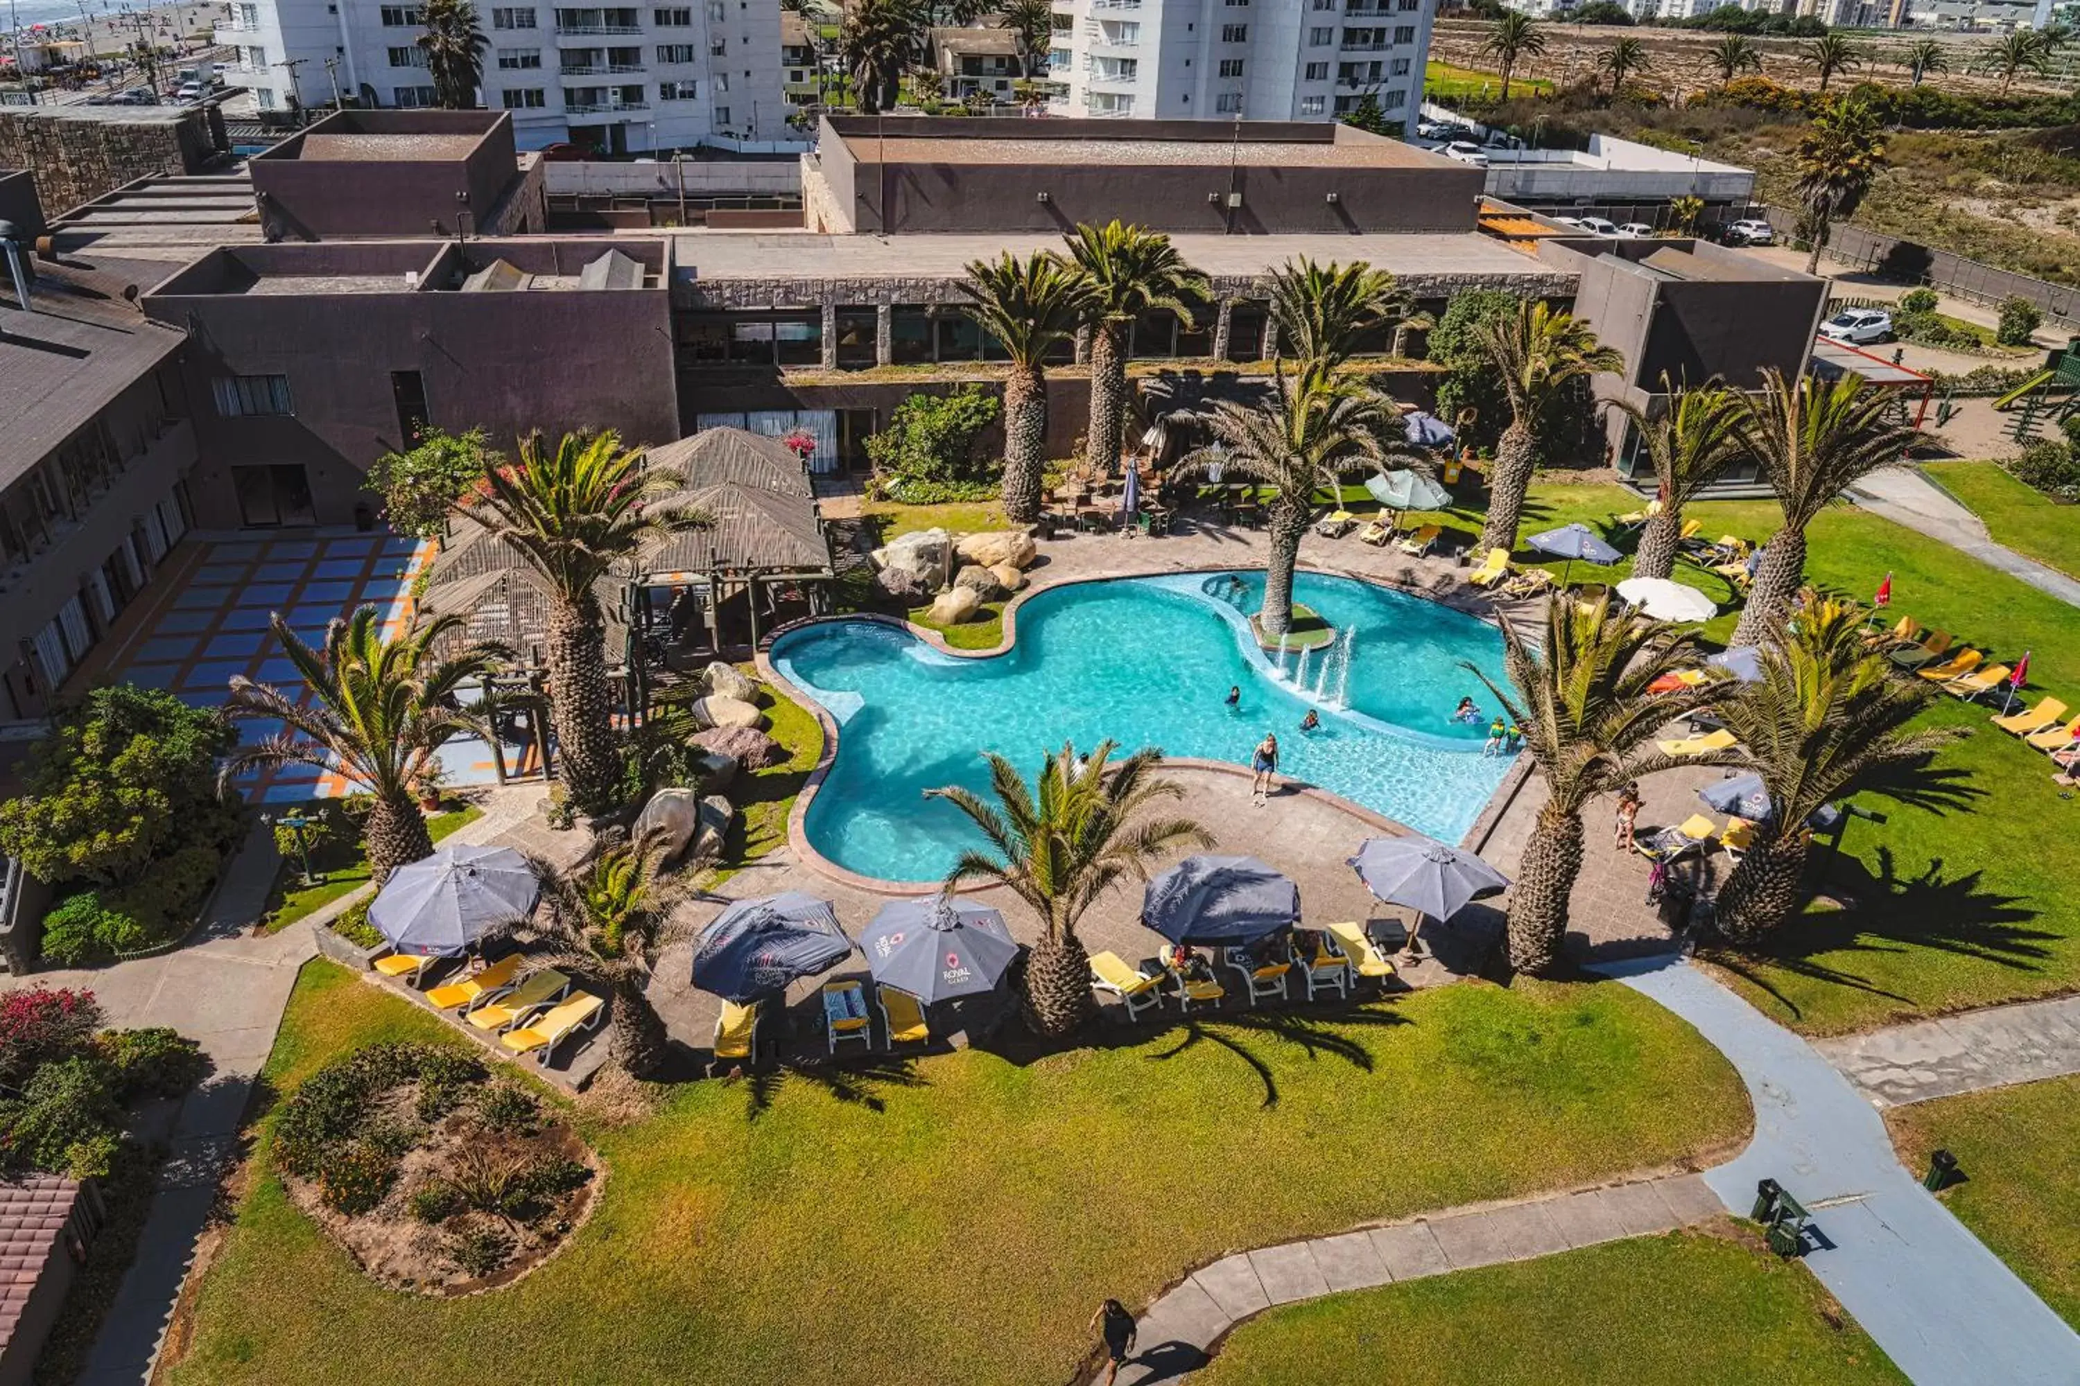
[{"label": "white apartment building at top centre, right of the other tower", "polygon": [[1055,0],[1050,106],[1329,121],[1371,94],[1387,121],[1412,127],[1435,10],[1435,0]]}]

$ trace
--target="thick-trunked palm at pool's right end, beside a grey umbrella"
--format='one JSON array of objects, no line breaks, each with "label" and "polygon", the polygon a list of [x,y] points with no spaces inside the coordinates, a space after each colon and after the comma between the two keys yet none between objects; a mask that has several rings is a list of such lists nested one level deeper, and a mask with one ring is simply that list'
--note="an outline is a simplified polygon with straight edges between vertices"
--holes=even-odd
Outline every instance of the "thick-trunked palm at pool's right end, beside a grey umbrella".
[{"label": "thick-trunked palm at pool's right end, beside a grey umbrella", "polygon": [[1668,767],[1654,736],[1710,696],[1695,688],[1647,692],[1695,659],[1689,634],[1637,613],[1612,613],[1606,596],[1548,603],[1537,644],[1504,621],[1506,688],[1466,663],[1525,729],[1525,748],[1545,781],[1545,802],[1510,891],[1508,950],[1518,972],[1552,972],[1560,960],[1568,896],[1581,875],[1583,808],[1600,794]]}]

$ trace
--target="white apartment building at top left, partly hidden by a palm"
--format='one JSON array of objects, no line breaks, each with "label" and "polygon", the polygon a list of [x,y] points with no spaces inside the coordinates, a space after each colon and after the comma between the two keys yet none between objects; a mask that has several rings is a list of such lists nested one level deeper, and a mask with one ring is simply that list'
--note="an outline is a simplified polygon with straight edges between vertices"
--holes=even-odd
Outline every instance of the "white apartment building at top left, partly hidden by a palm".
[{"label": "white apartment building at top left, partly hidden by a palm", "polygon": [[[218,44],[237,48],[227,79],[262,110],[433,106],[418,48],[418,4],[376,0],[233,0]],[[709,139],[788,139],[774,0],[578,6],[485,0],[480,102],[514,114],[522,150],[587,143],[609,154]]]}]

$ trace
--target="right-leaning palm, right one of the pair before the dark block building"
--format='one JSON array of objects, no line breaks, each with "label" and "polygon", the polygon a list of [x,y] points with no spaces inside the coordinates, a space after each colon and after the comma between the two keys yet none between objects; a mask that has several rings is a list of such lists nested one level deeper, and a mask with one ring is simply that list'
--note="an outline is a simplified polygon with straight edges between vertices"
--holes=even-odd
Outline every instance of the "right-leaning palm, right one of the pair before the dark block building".
[{"label": "right-leaning palm, right one of the pair before the dark block building", "polygon": [[1805,586],[1805,528],[1835,497],[1878,468],[1899,463],[1918,436],[1889,391],[1860,376],[1787,380],[1774,366],[1762,397],[1741,397],[1747,451],[1776,490],[1785,524],[1770,534],[1733,644],[1768,644]]}]

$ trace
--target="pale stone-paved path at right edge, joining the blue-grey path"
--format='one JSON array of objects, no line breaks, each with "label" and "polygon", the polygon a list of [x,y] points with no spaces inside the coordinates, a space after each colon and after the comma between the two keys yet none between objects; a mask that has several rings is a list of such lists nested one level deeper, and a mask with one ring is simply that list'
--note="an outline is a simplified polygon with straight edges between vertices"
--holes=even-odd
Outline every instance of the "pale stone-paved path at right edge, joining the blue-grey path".
[{"label": "pale stone-paved path at right edge, joining the blue-grey path", "polygon": [[2080,997],[1993,1006],[1814,1049],[1878,1108],[2080,1072]]}]

